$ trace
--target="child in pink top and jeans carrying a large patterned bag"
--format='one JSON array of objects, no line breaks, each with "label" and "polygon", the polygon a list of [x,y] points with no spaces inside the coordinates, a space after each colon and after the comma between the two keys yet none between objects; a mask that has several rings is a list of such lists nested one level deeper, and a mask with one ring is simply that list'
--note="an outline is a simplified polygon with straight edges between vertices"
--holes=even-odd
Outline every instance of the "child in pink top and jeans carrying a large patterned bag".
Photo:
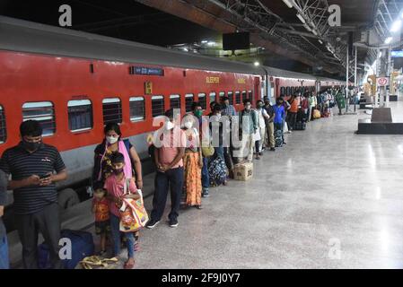
[{"label": "child in pink top and jeans carrying a large patterned bag", "polygon": [[[106,179],[105,188],[108,190],[108,199],[110,201],[110,228],[114,243],[114,255],[118,257],[120,253],[120,211],[119,208],[123,204],[123,198],[139,199],[135,181],[130,178],[127,191],[130,195],[124,194],[127,178],[125,177],[125,157],[120,152],[115,152],[110,158],[113,174]],[[124,265],[125,269],[132,269],[135,266],[135,236],[133,232],[125,232],[127,243],[127,261]]]}]

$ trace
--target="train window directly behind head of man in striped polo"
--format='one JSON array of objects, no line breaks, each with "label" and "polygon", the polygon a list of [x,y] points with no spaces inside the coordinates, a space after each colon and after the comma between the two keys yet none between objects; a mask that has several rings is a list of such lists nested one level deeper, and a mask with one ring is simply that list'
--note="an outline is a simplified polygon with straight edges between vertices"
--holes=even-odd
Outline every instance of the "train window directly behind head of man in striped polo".
[{"label": "train window directly behind head of man in striped polo", "polygon": [[55,109],[50,101],[27,102],[22,105],[22,121],[35,119],[43,129],[43,136],[56,132]]}]

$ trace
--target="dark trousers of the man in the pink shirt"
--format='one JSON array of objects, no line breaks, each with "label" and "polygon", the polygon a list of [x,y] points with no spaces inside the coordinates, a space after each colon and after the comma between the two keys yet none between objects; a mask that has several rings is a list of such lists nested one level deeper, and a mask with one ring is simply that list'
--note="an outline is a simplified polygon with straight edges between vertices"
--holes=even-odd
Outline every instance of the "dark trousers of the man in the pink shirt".
[{"label": "dark trousers of the man in the pink shirt", "polygon": [[151,218],[160,221],[167,203],[168,188],[171,187],[171,213],[170,220],[178,218],[180,210],[180,195],[183,188],[183,168],[172,169],[165,172],[157,171],[154,179],[153,211]]}]

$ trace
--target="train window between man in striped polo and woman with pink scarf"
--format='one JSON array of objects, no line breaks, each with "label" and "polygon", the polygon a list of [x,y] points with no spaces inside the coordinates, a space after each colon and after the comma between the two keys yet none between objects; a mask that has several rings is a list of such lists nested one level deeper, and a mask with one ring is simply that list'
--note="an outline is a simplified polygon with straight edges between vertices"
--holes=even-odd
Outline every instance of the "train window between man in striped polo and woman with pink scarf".
[{"label": "train window between man in striped polo and woman with pink scarf", "polygon": [[67,103],[68,128],[72,132],[92,129],[91,100],[69,100]]}]

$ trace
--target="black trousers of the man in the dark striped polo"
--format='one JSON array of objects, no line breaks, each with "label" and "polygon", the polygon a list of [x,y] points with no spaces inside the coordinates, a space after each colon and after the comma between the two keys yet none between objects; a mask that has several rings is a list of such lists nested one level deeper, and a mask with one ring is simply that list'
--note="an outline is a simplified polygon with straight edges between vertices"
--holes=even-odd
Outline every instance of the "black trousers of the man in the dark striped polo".
[{"label": "black trousers of the man in the dark striped polo", "polygon": [[22,243],[22,262],[25,269],[38,269],[39,232],[49,247],[50,265],[63,269],[58,255],[60,239],[60,220],[58,204],[49,204],[38,213],[15,215],[18,235]]}]

